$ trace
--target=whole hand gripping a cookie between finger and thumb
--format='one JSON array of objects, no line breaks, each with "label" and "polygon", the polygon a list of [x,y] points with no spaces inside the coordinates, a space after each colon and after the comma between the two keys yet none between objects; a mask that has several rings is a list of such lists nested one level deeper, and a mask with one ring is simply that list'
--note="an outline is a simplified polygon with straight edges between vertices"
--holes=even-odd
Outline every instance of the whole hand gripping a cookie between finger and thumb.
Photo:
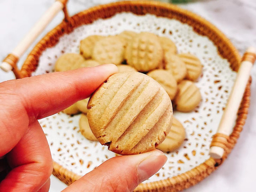
[{"label": "whole hand gripping a cookie between finger and thumb", "polygon": [[[0,157],[6,155],[11,167],[0,183],[0,191],[49,190],[53,163],[38,119],[89,97],[116,72],[115,65],[107,64],[0,84]],[[64,191],[132,191],[166,161],[159,150],[114,157]]]}]

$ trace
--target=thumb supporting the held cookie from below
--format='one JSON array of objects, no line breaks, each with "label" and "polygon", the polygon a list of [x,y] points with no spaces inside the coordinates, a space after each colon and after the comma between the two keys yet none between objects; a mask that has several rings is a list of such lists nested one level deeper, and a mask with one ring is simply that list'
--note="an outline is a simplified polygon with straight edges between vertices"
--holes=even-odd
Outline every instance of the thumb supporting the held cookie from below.
[{"label": "thumb supporting the held cookie from below", "polygon": [[72,183],[67,191],[133,191],[138,184],[154,175],[167,161],[159,150],[118,156],[105,161]]}]

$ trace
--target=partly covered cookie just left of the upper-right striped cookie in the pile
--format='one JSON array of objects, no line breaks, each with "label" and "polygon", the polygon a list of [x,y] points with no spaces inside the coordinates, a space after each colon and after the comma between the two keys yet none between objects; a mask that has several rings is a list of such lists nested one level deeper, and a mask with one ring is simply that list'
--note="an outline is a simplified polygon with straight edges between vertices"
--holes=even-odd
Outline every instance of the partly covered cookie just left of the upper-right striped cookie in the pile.
[{"label": "partly covered cookie just left of the upper-right striped cookie in the pile", "polygon": [[166,52],[164,60],[165,69],[172,72],[172,75],[178,83],[186,77],[186,65],[179,56]]}]

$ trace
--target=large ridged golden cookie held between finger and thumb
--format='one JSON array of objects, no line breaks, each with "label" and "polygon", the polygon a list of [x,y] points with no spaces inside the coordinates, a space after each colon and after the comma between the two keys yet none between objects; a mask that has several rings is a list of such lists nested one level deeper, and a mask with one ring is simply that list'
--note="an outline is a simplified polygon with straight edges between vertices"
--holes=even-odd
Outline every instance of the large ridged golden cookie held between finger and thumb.
[{"label": "large ridged golden cookie held between finger and thumb", "polygon": [[93,134],[118,154],[155,149],[172,124],[168,94],[153,78],[139,72],[110,76],[91,95],[87,108]]}]

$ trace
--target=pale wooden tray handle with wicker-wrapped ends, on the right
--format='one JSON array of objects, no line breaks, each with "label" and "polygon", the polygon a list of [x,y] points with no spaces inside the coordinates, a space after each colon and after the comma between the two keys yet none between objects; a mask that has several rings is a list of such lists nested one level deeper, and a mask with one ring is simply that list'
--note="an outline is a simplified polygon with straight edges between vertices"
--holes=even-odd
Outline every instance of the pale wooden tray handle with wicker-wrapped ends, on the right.
[{"label": "pale wooden tray handle with wicker-wrapped ends, on the right", "polygon": [[217,133],[213,136],[209,154],[215,159],[222,158],[224,154],[225,143],[233,130],[233,124],[237,118],[237,111],[243,98],[244,90],[255,59],[256,49],[254,47],[248,48],[242,58],[237,78],[229,95],[226,109],[222,115]]}]

